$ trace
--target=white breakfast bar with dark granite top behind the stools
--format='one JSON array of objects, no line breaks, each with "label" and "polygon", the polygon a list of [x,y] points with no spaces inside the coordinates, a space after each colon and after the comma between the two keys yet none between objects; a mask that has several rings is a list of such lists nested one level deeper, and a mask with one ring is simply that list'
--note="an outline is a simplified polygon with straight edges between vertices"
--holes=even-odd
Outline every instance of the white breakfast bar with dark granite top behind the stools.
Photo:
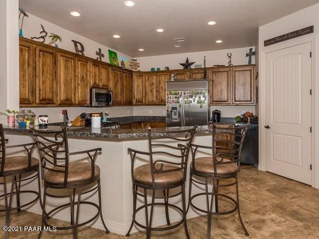
[{"label": "white breakfast bar with dark granite top behind the stools", "polygon": [[[156,135],[162,135],[161,131],[167,130],[166,135],[169,131],[175,131],[185,129],[188,127],[168,127],[168,128],[152,128],[156,130]],[[21,127],[5,127],[5,137],[9,141],[14,141],[16,144],[31,142],[33,141],[32,133],[30,129]],[[47,131],[55,131],[61,129],[61,126],[48,126]],[[211,126],[198,126],[193,142],[200,145],[207,145],[211,143]],[[172,133],[173,134],[173,133]],[[105,223],[111,232],[125,235],[130,227],[133,213],[133,193],[132,193],[132,177],[131,177],[131,158],[128,154],[128,148],[134,148],[136,150],[148,152],[148,129],[109,129],[109,128],[91,128],[91,127],[68,127],[68,144],[69,151],[83,151],[85,149],[101,147],[102,152],[97,156],[96,165],[101,169],[101,187],[102,187],[102,200],[103,207],[102,212]],[[176,135],[175,135],[176,136]],[[169,142],[167,142],[169,143]],[[19,155],[20,151],[7,151],[8,155]],[[33,151],[33,156],[38,158],[37,150]],[[201,151],[198,154],[209,155],[209,151]],[[74,156],[70,158],[70,161],[87,160],[83,156]],[[149,162],[149,158],[141,157],[138,158],[136,165],[139,166]],[[190,160],[188,161],[188,163]],[[189,166],[189,165],[188,165]],[[187,168],[187,177],[189,174],[189,167]],[[36,190],[36,182],[32,182],[28,187]],[[188,182],[186,182],[186,195],[188,189]],[[2,189],[1,189],[2,190]],[[197,193],[202,191],[197,187],[193,187],[193,192]],[[1,193],[1,192],[0,192]],[[28,195],[27,195],[28,196]],[[23,197],[23,200],[29,201],[30,198]],[[148,195],[150,198],[152,195]],[[98,200],[97,195],[91,195],[90,201]],[[186,197],[187,198],[187,197]],[[64,201],[65,202],[64,202]],[[14,200],[12,202],[14,204]],[[22,202],[23,203],[23,202]],[[46,208],[56,207],[57,205],[67,203],[67,199],[56,199],[47,198]],[[138,205],[142,204],[142,201],[138,201]],[[179,197],[172,198],[170,203],[177,206],[181,206],[181,199]],[[195,201],[198,206],[206,205],[205,197],[196,199]],[[38,203],[32,205],[27,211],[41,214],[41,208]],[[170,221],[171,223],[180,221],[180,214],[174,209],[170,210]],[[96,212],[89,206],[81,206],[80,222],[87,221]],[[187,218],[197,217],[199,214],[193,211],[191,208],[187,214]],[[70,212],[62,210],[55,214],[54,218],[70,221]],[[142,224],[145,223],[145,216],[143,212],[137,214],[137,220]],[[161,226],[165,225],[165,212],[163,208],[155,208],[153,225]],[[91,227],[103,230],[101,219],[96,220],[90,225]],[[132,232],[139,231],[141,229],[134,227]]]}]

